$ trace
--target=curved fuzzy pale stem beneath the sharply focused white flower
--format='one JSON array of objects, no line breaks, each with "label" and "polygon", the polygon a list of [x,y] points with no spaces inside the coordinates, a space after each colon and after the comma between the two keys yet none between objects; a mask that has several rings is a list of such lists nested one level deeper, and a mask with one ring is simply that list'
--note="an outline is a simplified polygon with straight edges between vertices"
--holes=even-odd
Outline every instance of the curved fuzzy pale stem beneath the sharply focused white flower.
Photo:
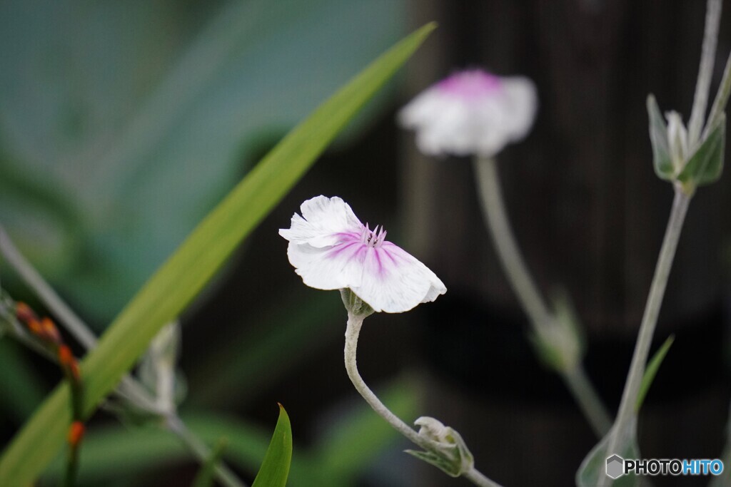
[{"label": "curved fuzzy pale stem beneath the sharply focused white flower", "polygon": [[[414,429],[404,423],[404,421],[401,421],[397,415],[391,413],[386,405],[378,399],[378,396],[371,391],[371,388],[366,385],[363,377],[360,377],[360,373],[357,368],[356,353],[358,337],[360,336],[360,328],[363,326],[363,319],[363,316],[356,316],[351,312],[348,312],[348,323],[345,330],[345,370],[348,373],[348,377],[350,377],[350,381],[353,383],[353,386],[355,386],[355,390],[358,391],[360,395],[363,396],[363,399],[366,399],[368,405],[370,405],[379,416],[384,418],[391,426],[393,426],[397,432],[403,434],[415,445],[419,445],[424,450],[437,450],[439,445],[435,442],[431,442],[427,438],[421,437],[414,431]],[[495,483],[493,480],[485,477],[485,475],[482,475],[482,473],[474,467],[469,469],[467,472],[464,472],[462,476],[469,479],[471,483],[474,483],[476,486],[500,487],[498,483]]]}]

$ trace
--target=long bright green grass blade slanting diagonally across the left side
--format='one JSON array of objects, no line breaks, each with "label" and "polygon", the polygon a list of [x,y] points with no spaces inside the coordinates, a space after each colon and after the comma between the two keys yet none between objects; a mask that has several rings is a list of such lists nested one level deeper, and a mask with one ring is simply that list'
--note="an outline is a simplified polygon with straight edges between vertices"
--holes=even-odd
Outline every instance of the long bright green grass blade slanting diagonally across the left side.
[{"label": "long bright green grass blade slanting diagonally across the left side", "polygon": [[[289,132],[148,280],[81,364],[85,415],[94,412],[157,331],[185,309],[434,27],[428,24],[398,42]],[[0,485],[29,485],[48,465],[64,443],[69,403],[67,386],[59,386],[13,438],[0,458]]]}]

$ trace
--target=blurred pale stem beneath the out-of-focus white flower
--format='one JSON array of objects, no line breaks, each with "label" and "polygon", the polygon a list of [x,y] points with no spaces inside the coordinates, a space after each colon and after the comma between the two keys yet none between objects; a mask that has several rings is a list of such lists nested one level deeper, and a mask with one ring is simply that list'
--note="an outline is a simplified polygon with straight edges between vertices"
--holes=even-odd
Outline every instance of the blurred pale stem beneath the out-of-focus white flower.
[{"label": "blurred pale stem beneath the out-of-focus white flower", "polygon": [[[482,212],[485,214],[508,282],[518,296],[523,310],[526,311],[531,326],[536,330],[550,326],[555,319],[553,313],[543,301],[510,228],[500,188],[497,161],[494,158],[475,158],[474,171],[477,174],[477,193],[480,196]],[[588,380],[583,366],[578,363],[570,369],[561,369],[558,372],[564,378],[569,391],[596,435],[604,436],[609,431],[612,421],[602,400],[599,399],[599,394],[596,394],[594,386]]]}]

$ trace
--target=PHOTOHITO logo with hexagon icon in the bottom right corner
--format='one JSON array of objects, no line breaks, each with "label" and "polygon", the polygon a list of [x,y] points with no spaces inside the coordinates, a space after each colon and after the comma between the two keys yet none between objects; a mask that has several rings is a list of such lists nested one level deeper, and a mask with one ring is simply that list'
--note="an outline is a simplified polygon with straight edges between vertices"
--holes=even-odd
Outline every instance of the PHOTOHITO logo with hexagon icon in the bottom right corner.
[{"label": "PHOTOHITO logo with hexagon icon in the bottom right corner", "polygon": [[724,462],[719,459],[623,459],[607,458],[607,477],[622,475],[721,475]]}]

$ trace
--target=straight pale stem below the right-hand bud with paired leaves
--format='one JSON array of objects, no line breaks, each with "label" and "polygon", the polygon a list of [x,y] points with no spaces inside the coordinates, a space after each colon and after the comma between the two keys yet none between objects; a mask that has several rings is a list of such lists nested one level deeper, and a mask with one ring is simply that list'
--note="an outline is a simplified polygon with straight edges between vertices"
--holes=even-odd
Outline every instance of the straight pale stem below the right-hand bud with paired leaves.
[{"label": "straight pale stem below the right-hand bud with paired leaves", "polygon": [[[622,400],[619,404],[617,419],[613,428],[614,432],[622,432],[624,425],[632,421],[632,417],[637,414],[637,395],[640,393],[642,378],[645,375],[645,364],[647,364],[652,337],[660,314],[660,305],[665,294],[668,277],[670,277],[675,249],[678,248],[678,239],[681,236],[683,221],[685,221],[691,197],[691,195],[684,193],[681,188],[675,188],[673,210],[670,212],[670,220],[667,222],[662,248],[655,267],[655,275],[652,279],[647,304],[645,304],[640,332],[637,335],[635,353],[632,355],[632,363],[629,366]],[[617,446],[617,435],[614,434],[609,441],[607,453],[619,453],[616,451]]]}]

